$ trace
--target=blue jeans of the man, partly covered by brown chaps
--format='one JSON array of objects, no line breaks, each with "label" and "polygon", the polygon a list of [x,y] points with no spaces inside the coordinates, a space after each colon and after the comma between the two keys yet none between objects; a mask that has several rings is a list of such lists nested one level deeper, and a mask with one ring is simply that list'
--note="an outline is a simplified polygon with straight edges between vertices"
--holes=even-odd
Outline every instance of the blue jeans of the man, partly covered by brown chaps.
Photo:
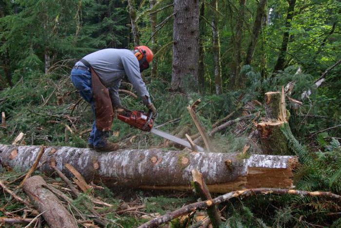
[{"label": "blue jeans of the man, partly covered by brown chaps", "polygon": [[88,138],[88,144],[94,145],[94,147],[97,148],[104,147],[107,138],[109,137],[109,132],[98,130],[96,128],[96,114],[90,71],[73,68],[71,71],[71,81],[76,89],[79,91],[79,94],[83,97],[83,99],[91,104],[91,108],[95,116],[93,129],[90,133],[90,137]]}]

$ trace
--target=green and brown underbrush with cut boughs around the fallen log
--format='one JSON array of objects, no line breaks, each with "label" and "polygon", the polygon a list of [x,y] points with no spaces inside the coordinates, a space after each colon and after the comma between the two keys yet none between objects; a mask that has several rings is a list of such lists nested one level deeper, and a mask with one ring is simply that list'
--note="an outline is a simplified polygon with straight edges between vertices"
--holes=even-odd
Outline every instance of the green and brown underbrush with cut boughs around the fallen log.
[{"label": "green and brown underbrush with cut boughs around the fallen log", "polygon": [[[212,130],[213,123],[233,111],[236,113],[230,119],[235,119],[245,112],[261,112],[263,115],[263,106],[245,110],[245,104],[251,100],[263,103],[265,92],[279,91],[282,85],[295,80],[291,98],[300,100],[301,94],[309,89],[313,94],[299,107],[288,102],[291,113],[290,128],[282,129],[290,150],[300,157],[302,164],[295,171],[294,185],[299,190],[324,190],[341,194],[341,149],[338,141],[340,128],[318,133],[340,124],[340,101],[336,101],[334,95],[327,96],[326,88],[316,90],[308,86],[307,81],[312,82],[311,76],[302,74],[298,77],[295,71],[296,68],[288,68],[272,79],[262,80],[252,68],[245,67],[243,74],[249,80],[248,87],[240,91],[224,91],[222,95],[170,93],[168,82],[162,79],[150,81],[150,78],[146,78],[152,102],[158,111],[154,126],[162,125],[160,130],[171,134],[181,132],[185,127],[189,129],[189,135],[197,133],[186,107],[199,98],[201,103],[196,111],[207,132]],[[129,83],[123,83],[122,89],[133,91]],[[127,94],[120,94],[120,97],[126,108],[145,110],[139,99]],[[23,132],[23,143],[26,144],[80,148],[87,146],[86,140],[93,122],[92,111],[90,105],[77,94],[69,76],[40,75],[33,72],[32,75],[20,79],[14,87],[0,92],[0,111],[6,114],[6,128],[0,129],[2,144],[10,144]],[[254,122],[258,121],[260,119],[246,120],[215,134],[212,144],[215,145],[216,151],[241,152],[249,142],[248,136],[254,130]],[[314,133],[316,134],[312,135]],[[117,119],[114,119],[109,140],[129,149],[179,150],[167,144],[164,139],[131,128]],[[1,180],[10,182],[19,174],[11,171],[2,172],[0,175]],[[51,182],[60,181],[58,178],[46,178],[50,178]],[[11,185],[13,186],[15,183]],[[22,192],[18,194],[24,197]],[[98,192],[95,190],[95,194],[116,208],[120,207],[123,201],[145,205],[141,212],[147,214],[164,214],[196,201],[196,197],[188,194],[157,195],[157,192],[151,194],[150,191],[139,190],[132,190],[128,194],[127,190],[105,189]],[[1,206],[0,216],[4,216],[3,211],[14,211],[22,207],[19,203],[9,202],[8,197],[3,194],[0,199],[1,205],[5,205]],[[81,207],[81,201],[79,198],[74,203]],[[258,195],[243,200],[230,200],[220,205],[219,209],[227,219],[226,227],[339,227],[341,224],[337,214],[340,211],[340,203],[318,197]],[[21,216],[21,213],[18,215]],[[123,227],[136,227],[147,221],[141,218],[141,214],[118,216],[110,212],[106,216]]]}]

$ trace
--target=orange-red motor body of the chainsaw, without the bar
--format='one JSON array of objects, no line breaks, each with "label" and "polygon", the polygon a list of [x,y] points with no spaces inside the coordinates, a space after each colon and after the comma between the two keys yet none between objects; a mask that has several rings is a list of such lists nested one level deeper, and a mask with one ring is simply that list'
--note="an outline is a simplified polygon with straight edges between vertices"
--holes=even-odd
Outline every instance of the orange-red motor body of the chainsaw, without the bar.
[{"label": "orange-red motor body of the chainsaw, without the bar", "polygon": [[150,132],[153,127],[152,118],[140,111],[117,114],[117,119],[145,132]]}]

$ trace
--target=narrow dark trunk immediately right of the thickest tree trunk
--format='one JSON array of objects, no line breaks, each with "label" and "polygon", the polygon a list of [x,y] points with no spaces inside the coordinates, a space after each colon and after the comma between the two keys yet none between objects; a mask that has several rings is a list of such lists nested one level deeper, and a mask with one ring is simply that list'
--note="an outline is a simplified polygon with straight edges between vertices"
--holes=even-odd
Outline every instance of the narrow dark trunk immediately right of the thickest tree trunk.
[{"label": "narrow dark trunk immediately right of the thickest tree trunk", "polygon": [[[200,18],[199,18],[199,31],[200,35],[204,35],[205,33],[205,21],[203,21],[203,17],[205,17],[205,1],[201,1],[200,6]],[[198,66],[198,83],[199,83],[199,91],[200,93],[205,92],[205,62],[204,62],[204,40],[199,39],[199,66]]]}]

